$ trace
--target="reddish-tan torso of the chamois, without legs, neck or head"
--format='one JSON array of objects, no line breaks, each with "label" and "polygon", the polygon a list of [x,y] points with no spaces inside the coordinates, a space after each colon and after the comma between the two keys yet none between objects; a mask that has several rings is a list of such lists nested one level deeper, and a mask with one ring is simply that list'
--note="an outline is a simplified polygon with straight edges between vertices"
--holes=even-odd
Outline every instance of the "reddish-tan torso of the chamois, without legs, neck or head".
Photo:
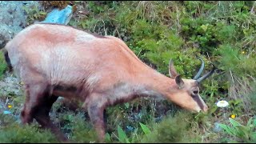
[{"label": "reddish-tan torso of the chamois, without legs, neck or head", "polygon": [[53,85],[129,80],[142,62],[127,48],[114,38],[54,24],[28,26],[6,45],[18,75],[37,72]]}]

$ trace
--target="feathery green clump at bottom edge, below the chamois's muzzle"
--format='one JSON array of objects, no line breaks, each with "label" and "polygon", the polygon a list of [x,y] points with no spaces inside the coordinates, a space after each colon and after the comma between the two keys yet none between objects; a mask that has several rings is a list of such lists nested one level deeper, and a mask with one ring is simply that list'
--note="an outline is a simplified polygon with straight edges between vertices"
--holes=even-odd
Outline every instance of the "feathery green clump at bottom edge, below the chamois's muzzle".
[{"label": "feathery green clump at bottom edge, below the chamois's muzzle", "polygon": [[190,126],[191,118],[193,115],[186,111],[169,115],[162,122],[154,124],[151,133],[144,135],[141,142],[199,142],[200,135],[194,133]]}]

